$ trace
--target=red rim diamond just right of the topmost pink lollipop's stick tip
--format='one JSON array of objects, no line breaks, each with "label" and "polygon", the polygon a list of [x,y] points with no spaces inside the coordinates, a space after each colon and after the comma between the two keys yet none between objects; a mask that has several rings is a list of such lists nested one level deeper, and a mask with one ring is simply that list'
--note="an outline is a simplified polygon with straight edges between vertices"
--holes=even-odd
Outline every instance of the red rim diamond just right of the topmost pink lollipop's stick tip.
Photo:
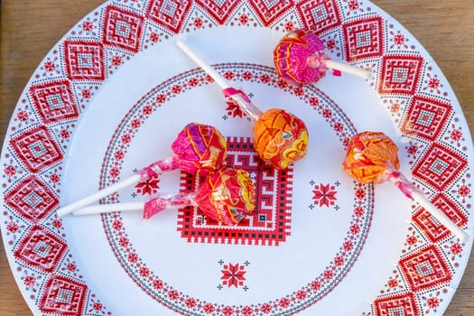
[{"label": "red rim diamond just right of the topmost pink lollipop's stick tip", "polygon": [[381,94],[413,95],[421,77],[423,57],[417,55],[385,55],[382,59]]}]

